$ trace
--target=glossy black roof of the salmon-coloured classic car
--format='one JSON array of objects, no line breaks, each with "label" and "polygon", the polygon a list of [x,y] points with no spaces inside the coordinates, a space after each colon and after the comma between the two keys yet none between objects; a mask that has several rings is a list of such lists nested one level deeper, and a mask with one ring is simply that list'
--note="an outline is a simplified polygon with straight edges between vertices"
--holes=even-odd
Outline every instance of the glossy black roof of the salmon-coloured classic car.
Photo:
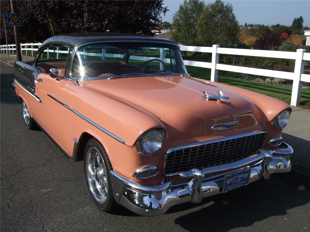
[{"label": "glossy black roof of the salmon-coloured classic car", "polygon": [[144,41],[144,42],[165,42],[177,45],[175,42],[163,38],[143,36],[136,34],[122,34],[122,33],[70,33],[61,34],[48,38],[42,43],[45,45],[67,45],[67,46],[79,46],[85,43],[99,42],[99,41]]}]

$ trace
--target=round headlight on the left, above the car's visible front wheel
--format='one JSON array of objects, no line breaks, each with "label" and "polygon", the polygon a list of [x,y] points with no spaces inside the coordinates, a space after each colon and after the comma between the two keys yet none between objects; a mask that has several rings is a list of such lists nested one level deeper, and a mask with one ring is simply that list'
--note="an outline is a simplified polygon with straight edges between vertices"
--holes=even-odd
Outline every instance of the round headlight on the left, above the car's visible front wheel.
[{"label": "round headlight on the left, above the car's visible front wheel", "polygon": [[143,135],[141,139],[141,148],[144,153],[154,155],[160,150],[160,148],[162,148],[163,143],[164,136],[162,135],[162,132],[154,129]]}]

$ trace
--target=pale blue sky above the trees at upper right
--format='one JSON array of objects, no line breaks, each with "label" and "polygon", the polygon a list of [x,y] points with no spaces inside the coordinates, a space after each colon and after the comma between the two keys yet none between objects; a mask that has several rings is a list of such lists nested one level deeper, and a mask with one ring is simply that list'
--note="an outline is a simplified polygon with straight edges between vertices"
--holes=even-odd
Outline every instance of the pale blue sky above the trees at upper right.
[{"label": "pale blue sky above the trees at upper right", "polygon": [[[179,5],[184,1],[164,0],[164,6],[168,6],[169,11],[166,16],[162,14],[162,21],[172,23],[173,14],[179,9]],[[214,1],[204,1],[206,4]],[[290,26],[294,18],[303,16],[303,26],[310,26],[310,0],[303,1],[224,1],[231,3],[239,24],[281,24]]]}]

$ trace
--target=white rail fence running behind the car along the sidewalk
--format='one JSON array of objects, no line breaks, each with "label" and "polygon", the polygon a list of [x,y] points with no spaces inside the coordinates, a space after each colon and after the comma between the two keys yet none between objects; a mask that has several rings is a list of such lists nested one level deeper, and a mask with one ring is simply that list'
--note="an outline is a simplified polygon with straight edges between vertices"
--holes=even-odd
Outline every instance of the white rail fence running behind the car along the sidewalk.
[{"label": "white rail fence running behind the car along the sidewalk", "polygon": [[[22,51],[26,51],[26,55],[31,54],[31,56],[34,56],[36,52],[38,51],[38,48],[40,47],[40,45],[41,43],[26,43],[26,44],[20,44],[20,47]],[[15,44],[8,45],[8,47],[7,45],[0,45],[1,53],[7,53],[7,49],[10,54],[14,54],[14,51],[16,50]],[[211,81],[215,81],[215,82],[218,81],[218,70],[293,80],[292,96],[291,96],[290,104],[294,106],[299,105],[302,82],[303,81],[310,82],[310,75],[303,74],[305,61],[310,61],[310,53],[306,53],[305,49],[297,49],[296,52],[282,52],[282,51],[267,51],[267,50],[220,48],[219,45],[213,45],[212,47],[195,47],[195,46],[180,45],[180,49],[181,51],[212,53],[211,62],[184,60],[185,65],[210,68],[211,69]],[[47,52],[47,56],[49,56],[49,50],[45,50],[45,51]],[[61,50],[58,50],[58,48],[57,50],[51,50],[51,52],[56,53],[57,58],[59,58],[60,53],[68,53],[68,51],[61,51]],[[250,67],[240,67],[240,66],[234,66],[234,65],[220,64],[219,54],[293,59],[295,60],[295,68],[294,68],[294,72],[285,72],[285,71],[275,71],[275,70],[267,70],[267,69],[260,69],[260,68],[250,68]],[[85,51],[84,51],[84,55],[98,56],[97,53],[88,54],[88,53],[85,53]],[[109,57],[109,54],[106,54],[103,49],[102,56]],[[132,58],[135,58],[137,60],[152,59],[152,57],[139,57],[139,56],[135,56]],[[164,62],[166,60],[166,58],[163,58],[162,55],[161,55],[161,59]]]}]

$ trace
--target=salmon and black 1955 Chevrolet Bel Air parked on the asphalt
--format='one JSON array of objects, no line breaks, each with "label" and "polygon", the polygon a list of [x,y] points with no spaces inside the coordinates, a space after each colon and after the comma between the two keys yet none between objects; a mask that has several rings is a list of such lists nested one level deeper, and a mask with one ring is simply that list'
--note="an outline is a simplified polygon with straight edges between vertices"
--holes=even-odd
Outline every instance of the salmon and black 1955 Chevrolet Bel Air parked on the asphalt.
[{"label": "salmon and black 1955 Chevrolet Bel Air parked on the asphalt", "polygon": [[289,172],[282,101],[188,75],[173,41],[76,33],[16,61],[26,127],[39,126],[71,161],[103,211],[144,216]]}]

